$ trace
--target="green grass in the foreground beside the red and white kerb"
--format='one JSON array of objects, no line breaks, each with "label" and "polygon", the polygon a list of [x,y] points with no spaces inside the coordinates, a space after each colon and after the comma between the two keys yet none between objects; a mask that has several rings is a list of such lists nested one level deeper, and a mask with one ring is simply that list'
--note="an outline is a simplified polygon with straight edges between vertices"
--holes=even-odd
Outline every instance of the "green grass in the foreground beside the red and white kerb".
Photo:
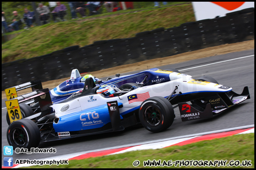
[{"label": "green grass in the foreground beside the red and white kerb", "polygon": [[[140,164],[133,166],[135,160]],[[165,166],[143,166],[144,162],[155,160]],[[170,165],[170,160],[174,163]],[[175,166],[175,162],[177,162]],[[190,166],[191,160],[192,166]],[[220,166],[193,166],[203,163],[202,161],[223,161]],[[182,162],[183,161],[183,162]],[[226,166],[224,162],[226,161]],[[122,154],[106,155],[103,157],[88,158],[82,160],[69,160],[68,165],[37,165],[28,168],[254,168],[254,133],[233,135],[214,140],[206,140],[192,143],[185,146],[171,146],[162,149],[150,149],[142,151],[132,151]],[[210,165],[210,162],[204,162]],[[216,162],[217,163],[217,162]],[[239,163],[239,166],[235,166]],[[240,164],[251,166],[241,166]],[[186,166],[188,164],[188,166]],[[227,166],[227,165],[230,166]],[[181,165],[181,166],[180,166]],[[233,165],[233,166],[231,166]]]}]

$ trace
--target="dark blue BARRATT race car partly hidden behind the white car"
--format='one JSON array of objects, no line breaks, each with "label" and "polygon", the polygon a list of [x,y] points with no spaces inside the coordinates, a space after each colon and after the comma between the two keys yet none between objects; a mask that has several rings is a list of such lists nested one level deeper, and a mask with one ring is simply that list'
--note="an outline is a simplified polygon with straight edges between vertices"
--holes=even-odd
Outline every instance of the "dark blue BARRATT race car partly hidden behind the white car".
[{"label": "dark blue BARRATT race car partly hidden behind the white car", "polygon": [[[102,81],[96,77],[93,77],[92,75],[85,75],[84,77],[81,77],[78,69],[73,69],[70,75],[70,79],[65,80],[61,84],[59,84],[54,89],[50,90],[50,98],[52,100],[53,104],[62,102],[75,92],[84,89],[84,81],[87,77],[92,77],[94,79],[94,82],[97,86],[103,86],[103,85],[110,85],[112,87],[118,87],[120,90],[129,90],[132,86],[138,87],[138,83],[143,83],[144,86],[152,85],[152,84],[158,84],[158,83],[164,83],[166,81],[170,81],[170,74],[181,74],[178,70],[171,68],[169,70],[160,70],[158,68],[151,68],[142,72],[129,74],[129,75],[123,75],[120,76],[120,74],[116,74],[116,77],[114,78],[108,78],[106,81]],[[14,87],[11,87],[9,89],[5,89],[6,91],[6,97],[7,99],[14,98],[14,94],[16,94],[15,97],[17,97],[17,91],[26,89],[28,87],[32,87],[32,92],[30,94],[22,95],[18,97],[18,101],[21,103],[21,113],[20,117],[25,118],[30,115],[33,115],[34,113],[40,112],[40,107],[38,101],[32,101],[28,103],[32,109],[28,107],[27,104],[24,104],[22,102],[25,102],[28,100],[28,98],[32,99],[35,90],[43,89],[41,80],[36,81],[30,81],[21,85],[17,85]],[[11,90],[10,90],[11,89]],[[34,104],[32,104],[34,103]],[[10,118],[11,117],[11,118]],[[12,121],[17,120],[14,115],[6,113],[6,120],[8,125],[11,124]]]}]

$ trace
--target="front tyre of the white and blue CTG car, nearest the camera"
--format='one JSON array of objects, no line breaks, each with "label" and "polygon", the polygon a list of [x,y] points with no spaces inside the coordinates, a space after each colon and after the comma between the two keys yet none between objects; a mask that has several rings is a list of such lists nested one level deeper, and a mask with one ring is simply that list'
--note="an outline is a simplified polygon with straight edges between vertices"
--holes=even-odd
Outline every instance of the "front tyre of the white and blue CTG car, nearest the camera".
[{"label": "front tyre of the white and blue CTG car, nearest the camera", "polygon": [[150,132],[166,130],[172,125],[174,118],[174,109],[164,97],[151,97],[140,105],[140,122]]}]

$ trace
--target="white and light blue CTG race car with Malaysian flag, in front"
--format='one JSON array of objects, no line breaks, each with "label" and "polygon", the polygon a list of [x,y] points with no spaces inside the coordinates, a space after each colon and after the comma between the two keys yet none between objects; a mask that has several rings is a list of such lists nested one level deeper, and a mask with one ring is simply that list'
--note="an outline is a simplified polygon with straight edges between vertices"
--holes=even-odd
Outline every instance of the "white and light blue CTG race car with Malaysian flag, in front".
[{"label": "white and light blue CTG race car with Malaysian flag, in front", "polygon": [[12,122],[7,141],[14,148],[31,148],[40,142],[121,131],[139,123],[151,132],[161,132],[172,125],[175,107],[182,121],[188,121],[211,118],[250,98],[248,87],[239,95],[231,87],[210,82],[216,81],[210,77],[192,79],[171,72],[169,78],[148,86],[139,83],[127,91],[99,87],[87,78],[82,90],[57,104],[52,104],[48,89],[37,90],[41,112]]}]

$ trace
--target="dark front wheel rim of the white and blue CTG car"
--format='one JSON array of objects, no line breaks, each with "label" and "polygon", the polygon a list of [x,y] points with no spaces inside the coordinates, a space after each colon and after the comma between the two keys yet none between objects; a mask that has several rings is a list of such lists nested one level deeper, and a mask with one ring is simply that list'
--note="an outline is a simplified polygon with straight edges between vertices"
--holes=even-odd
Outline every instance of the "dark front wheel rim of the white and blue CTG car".
[{"label": "dark front wheel rim of the white and blue CTG car", "polygon": [[148,106],[144,111],[144,119],[151,126],[157,126],[161,121],[160,109],[154,105]]}]

